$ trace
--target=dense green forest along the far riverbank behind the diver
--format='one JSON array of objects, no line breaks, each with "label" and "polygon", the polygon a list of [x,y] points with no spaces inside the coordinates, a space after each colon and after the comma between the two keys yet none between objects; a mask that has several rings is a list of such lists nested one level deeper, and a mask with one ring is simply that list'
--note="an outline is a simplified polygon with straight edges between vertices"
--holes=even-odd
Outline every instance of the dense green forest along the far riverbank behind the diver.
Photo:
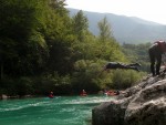
[{"label": "dense green forest along the far riverbank behind the diver", "polygon": [[[65,0],[2,0],[0,6],[0,95],[96,94],[124,90],[148,71],[145,44],[120,44],[106,17],[89,30],[80,10],[70,17]],[[141,72],[101,73],[107,62],[141,63]]]}]

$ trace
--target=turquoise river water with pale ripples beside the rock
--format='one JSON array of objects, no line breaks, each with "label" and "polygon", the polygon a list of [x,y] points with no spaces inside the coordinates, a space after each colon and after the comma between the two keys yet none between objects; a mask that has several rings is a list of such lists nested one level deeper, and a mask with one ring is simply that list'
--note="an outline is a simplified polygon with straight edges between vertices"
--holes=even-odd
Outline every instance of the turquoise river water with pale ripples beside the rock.
[{"label": "turquoise river water with pale ripples beside the rock", "polygon": [[0,101],[0,125],[91,125],[92,108],[110,96],[56,96]]}]

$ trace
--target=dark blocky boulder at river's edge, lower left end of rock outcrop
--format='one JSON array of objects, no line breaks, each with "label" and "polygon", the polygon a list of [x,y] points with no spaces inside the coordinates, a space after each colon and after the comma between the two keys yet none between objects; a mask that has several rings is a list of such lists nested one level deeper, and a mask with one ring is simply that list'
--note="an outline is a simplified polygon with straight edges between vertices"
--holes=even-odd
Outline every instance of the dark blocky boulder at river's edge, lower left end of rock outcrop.
[{"label": "dark blocky boulder at river's edge, lower left end of rock outcrop", "polygon": [[129,98],[102,103],[92,111],[93,125],[123,125]]}]

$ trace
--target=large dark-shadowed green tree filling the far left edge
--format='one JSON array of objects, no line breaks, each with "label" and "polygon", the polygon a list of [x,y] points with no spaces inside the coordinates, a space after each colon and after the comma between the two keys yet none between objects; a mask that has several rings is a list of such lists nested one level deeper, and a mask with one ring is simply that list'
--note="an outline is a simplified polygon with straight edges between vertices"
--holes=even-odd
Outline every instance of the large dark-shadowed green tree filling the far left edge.
[{"label": "large dark-shadowed green tree filling the far left edge", "polygon": [[[0,55],[1,74],[11,76],[38,71],[46,49],[43,29],[45,0],[1,1]],[[11,54],[13,53],[13,54]]]}]

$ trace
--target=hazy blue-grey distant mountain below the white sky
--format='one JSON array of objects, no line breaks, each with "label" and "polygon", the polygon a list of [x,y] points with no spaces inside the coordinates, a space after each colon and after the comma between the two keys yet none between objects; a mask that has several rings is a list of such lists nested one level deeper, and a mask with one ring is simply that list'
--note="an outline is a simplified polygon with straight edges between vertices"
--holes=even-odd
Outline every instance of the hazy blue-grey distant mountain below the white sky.
[{"label": "hazy blue-grey distant mountain below the white sky", "polygon": [[[76,9],[68,8],[70,15],[77,13]],[[146,21],[136,17],[117,15],[113,13],[97,13],[83,11],[89,19],[90,31],[98,34],[97,23],[104,18],[110,22],[113,35],[120,43],[145,43],[166,40],[166,25]]]}]

